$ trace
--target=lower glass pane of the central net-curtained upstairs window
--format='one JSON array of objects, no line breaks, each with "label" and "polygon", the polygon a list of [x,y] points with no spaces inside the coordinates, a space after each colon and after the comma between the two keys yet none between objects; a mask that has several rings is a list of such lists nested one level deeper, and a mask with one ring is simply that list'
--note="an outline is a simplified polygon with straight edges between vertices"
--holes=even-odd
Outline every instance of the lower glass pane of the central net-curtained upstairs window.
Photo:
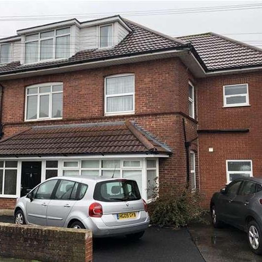
[{"label": "lower glass pane of the central net-curtained upstairs window", "polygon": [[107,98],[107,112],[133,111],[133,95]]}]

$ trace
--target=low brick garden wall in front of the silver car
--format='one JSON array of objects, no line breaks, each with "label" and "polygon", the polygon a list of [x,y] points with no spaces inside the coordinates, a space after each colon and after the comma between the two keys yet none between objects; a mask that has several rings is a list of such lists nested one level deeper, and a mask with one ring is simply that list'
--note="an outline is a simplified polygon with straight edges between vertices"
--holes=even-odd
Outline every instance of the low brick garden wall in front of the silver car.
[{"label": "low brick garden wall in front of the silver car", "polygon": [[92,232],[0,223],[0,257],[43,262],[91,262]]}]

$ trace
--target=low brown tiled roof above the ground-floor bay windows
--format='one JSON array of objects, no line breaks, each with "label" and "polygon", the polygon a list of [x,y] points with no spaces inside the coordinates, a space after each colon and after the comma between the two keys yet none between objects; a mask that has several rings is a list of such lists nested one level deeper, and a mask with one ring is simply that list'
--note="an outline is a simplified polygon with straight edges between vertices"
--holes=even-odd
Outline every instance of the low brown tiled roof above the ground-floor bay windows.
[{"label": "low brown tiled roof above the ground-floor bay windows", "polygon": [[130,121],[32,127],[0,141],[0,156],[171,152]]}]

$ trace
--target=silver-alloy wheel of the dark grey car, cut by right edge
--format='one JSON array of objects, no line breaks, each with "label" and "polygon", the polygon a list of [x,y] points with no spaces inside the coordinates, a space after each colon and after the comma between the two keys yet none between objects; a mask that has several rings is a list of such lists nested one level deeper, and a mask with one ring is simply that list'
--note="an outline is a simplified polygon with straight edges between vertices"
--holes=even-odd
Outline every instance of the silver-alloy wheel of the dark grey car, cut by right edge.
[{"label": "silver-alloy wheel of the dark grey car, cut by right edge", "polygon": [[258,255],[262,254],[262,233],[260,226],[255,220],[248,223],[247,238],[252,251]]}]

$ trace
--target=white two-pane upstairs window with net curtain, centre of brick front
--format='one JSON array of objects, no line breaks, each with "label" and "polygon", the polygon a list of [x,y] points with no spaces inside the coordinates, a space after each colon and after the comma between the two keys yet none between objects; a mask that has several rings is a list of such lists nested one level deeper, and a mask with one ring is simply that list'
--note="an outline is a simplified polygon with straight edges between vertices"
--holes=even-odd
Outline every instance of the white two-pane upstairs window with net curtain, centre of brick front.
[{"label": "white two-pane upstairs window with net curtain, centre of brick front", "polygon": [[135,76],[110,76],[105,79],[105,114],[119,115],[135,112]]}]

